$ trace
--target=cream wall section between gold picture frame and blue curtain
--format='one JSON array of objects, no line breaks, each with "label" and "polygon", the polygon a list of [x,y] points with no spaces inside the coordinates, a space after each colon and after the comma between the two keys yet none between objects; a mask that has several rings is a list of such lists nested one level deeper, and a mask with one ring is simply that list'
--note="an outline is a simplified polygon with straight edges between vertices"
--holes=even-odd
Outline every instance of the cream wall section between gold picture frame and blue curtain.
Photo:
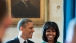
[{"label": "cream wall section between gold picture frame and blue curtain", "polygon": [[50,0],[50,21],[55,21],[60,29],[58,41],[63,42],[63,0]]}]

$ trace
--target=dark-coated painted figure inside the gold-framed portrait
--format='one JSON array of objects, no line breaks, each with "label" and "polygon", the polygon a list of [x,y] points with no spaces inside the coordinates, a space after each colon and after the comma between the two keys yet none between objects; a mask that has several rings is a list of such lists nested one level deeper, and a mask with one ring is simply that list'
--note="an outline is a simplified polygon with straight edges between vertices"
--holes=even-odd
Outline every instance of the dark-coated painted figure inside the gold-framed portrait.
[{"label": "dark-coated painted figure inside the gold-framed portrait", "polygon": [[12,7],[12,14],[15,18],[38,18],[40,17],[38,9],[30,4],[29,0],[20,0]]}]

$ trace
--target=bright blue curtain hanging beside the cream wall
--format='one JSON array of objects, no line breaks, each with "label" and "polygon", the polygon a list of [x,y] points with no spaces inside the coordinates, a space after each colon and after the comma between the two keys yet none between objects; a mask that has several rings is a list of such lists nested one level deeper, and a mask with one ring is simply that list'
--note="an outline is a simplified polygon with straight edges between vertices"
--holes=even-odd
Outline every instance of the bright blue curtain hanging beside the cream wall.
[{"label": "bright blue curtain hanging beside the cream wall", "polygon": [[66,39],[66,32],[68,30],[68,24],[71,19],[75,18],[76,16],[76,0],[64,0],[64,30],[63,30],[63,43],[65,43]]}]

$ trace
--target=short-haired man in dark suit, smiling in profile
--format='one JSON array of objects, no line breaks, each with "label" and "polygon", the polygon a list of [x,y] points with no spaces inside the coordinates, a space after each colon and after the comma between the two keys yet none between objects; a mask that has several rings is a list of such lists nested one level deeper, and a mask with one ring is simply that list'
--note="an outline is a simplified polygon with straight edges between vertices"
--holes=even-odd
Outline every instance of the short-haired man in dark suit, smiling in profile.
[{"label": "short-haired man in dark suit, smiling in profile", "polygon": [[17,28],[19,29],[19,35],[13,40],[7,41],[6,43],[34,43],[28,40],[32,38],[34,32],[33,23],[29,19],[21,19],[18,22]]}]

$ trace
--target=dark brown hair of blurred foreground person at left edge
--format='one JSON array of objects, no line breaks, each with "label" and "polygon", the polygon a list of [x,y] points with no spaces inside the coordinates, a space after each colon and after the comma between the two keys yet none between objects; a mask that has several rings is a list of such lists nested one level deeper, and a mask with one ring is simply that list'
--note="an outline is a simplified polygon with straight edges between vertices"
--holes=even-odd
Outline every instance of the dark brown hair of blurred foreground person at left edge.
[{"label": "dark brown hair of blurred foreground person at left edge", "polygon": [[6,16],[7,6],[6,6],[6,0],[0,0],[0,23]]}]

